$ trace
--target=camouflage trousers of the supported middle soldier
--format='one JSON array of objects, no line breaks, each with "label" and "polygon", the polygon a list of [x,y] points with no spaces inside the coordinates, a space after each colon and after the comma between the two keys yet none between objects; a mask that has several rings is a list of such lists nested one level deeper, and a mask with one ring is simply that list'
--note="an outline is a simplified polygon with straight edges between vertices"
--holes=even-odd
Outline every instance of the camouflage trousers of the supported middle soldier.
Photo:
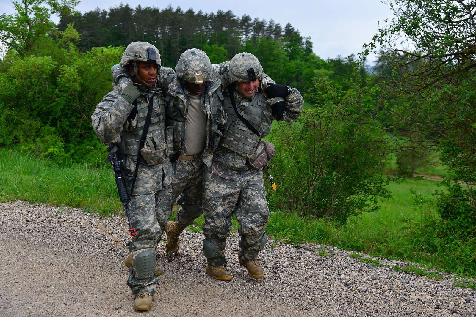
[{"label": "camouflage trousers of the supported middle soldier", "polygon": [[203,162],[175,161],[172,163],[174,178],[172,181],[172,199],[167,212],[158,218],[160,225],[165,225],[172,215],[172,204],[183,193],[185,202],[181,204],[176,214],[180,229],[185,229],[200,217],[202,211],[202,170]]}]

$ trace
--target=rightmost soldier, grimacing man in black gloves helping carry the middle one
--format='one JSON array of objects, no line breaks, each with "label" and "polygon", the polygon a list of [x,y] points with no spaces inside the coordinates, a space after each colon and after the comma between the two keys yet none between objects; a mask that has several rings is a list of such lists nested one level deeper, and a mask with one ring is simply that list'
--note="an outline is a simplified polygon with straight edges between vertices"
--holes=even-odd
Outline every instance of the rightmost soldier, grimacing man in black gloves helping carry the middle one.
[{"label": "rightmost soldier, grimacing man in black gloves helping carry the middle one", "polygon": [[[248,150],[255,149],[259,138],[268,135],[273,119],[291,122],[302,112],[303,98],[297,89],[279,84],[269,85],[265,93],[258,89],[262,74],[258,58],[250,53],[239,53],[229,62],[228,80],[232,84],[228,91],[232,95],[226,92],[224,96],[226,132],[213,155],[211,166],[204,169],[203,251],[208,258],[207,273],[218,280],[232,278],[224,267],[226,259],[223,251],[233,212],[240,224],[239,263],[248,269],[252,278],[264,276],[257,259],[258,252],[266,243],[265,225],[269,211],[263,172],[250,166],[248,157],[254,153]],[[268,99],[274,97],[283,97],[286,102]],[[259,136],[252,136],[252,130],[239,119],[237,111]]]}]

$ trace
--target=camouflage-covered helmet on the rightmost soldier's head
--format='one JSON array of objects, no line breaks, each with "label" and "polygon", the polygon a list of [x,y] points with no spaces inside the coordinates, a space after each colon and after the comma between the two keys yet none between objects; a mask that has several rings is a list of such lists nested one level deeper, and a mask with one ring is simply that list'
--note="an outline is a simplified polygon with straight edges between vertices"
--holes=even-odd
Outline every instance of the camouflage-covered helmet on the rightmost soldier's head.
[{"label": "camouflage-covered helmet on the rightmost soldier's head", "polygon": [[228,80],[246,82],[253,81],[263,74],[263,67],[258,58],[251,53],[238,53],[230,60]]}]

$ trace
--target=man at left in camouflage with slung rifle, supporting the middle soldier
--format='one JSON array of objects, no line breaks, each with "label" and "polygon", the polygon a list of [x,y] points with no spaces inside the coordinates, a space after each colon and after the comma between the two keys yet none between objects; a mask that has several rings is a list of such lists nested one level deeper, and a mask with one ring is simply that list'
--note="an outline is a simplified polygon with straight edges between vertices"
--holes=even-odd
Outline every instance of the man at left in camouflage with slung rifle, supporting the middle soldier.
[{"label": "man at left in camouflage with slung rifle, supporting the middle soldier", "polygon": [[137,231],[129,244],[127,284],[134,295],[134,309],[149,310],[158,287],[155,261],[162,234],[156,214],[169,208],[173,173],[166,143],[165,102],[157,86],[159,50],[147,42],[132,42],[120,65],[128,68],[132,82],[104,96],[91,119],[99,139],[114,144],[122,161],[130,216]]}]

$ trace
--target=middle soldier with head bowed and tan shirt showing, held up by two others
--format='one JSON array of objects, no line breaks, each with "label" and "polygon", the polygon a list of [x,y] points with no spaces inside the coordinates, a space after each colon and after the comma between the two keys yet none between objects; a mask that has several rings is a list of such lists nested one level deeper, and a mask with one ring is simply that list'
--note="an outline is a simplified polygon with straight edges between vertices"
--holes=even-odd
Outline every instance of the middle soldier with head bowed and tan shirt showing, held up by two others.
[{"label": "middle soldier with head bowed and tan shirt showing, held up by two others", "polygon": [[[183,193],[176,221],[166,224],[172,215],[172,204],[165,213],[157,214],[159,225],[162,229],[165,226],[167,234],[166,252],[178,250],[180,233],[203,213],[202,166],[203,163],[211,165],[212,153],[223,135],[219,127],[223,127],[226,120],[222,107],[224,78],[220,74],[228,78],[228,64],[214,65],[218,70],[214,72],[207,54],[191,48],[180,56],[175,74],[171,74],[173,71],[159,72],[158,85],[167,91],[166,122],[173,129],[171,202]],[[120,68],[113,72],[116,82],[119,82],[118,76],[127,76],[127,73],[119,72]],[[261,83],[267,87],[274,82],[263,73]],[[130,260],[129,256],[124,262],[127,267],[130,267]]]}]

